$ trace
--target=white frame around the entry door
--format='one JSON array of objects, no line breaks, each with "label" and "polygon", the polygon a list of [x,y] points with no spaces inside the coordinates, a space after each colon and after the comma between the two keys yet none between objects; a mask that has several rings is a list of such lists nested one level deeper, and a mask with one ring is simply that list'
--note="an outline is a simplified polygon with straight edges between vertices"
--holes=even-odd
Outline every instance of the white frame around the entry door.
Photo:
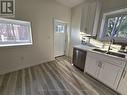
[{"label": "white frame around the entry door", "polygon": [[61,22],[61,23],[65,23],[66,24],[66,31],[65,31],[65,55],[66,56],[69,56],[69,47],[70,47],[70,23],[67,22],[67,21],[63,21],[63,20],[60,20],[60,19],[56,19],[56,18],[53,18],[53,57],[55,59],[55,45],[54,45],[54,42],[55,42],[55,37],[54,37],[54,33],[55,33],[55,23],[56,22]]}]

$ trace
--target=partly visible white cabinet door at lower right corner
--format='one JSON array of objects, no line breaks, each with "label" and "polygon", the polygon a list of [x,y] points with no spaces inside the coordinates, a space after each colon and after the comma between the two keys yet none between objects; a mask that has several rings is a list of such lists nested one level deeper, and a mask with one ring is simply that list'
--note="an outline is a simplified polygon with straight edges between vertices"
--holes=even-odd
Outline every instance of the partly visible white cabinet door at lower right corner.
[{"label": "partly visible white cabinet door at lower right corner", "polygon": [[124,72],[117,91],[122,95],[127,95],[127,71]]}]

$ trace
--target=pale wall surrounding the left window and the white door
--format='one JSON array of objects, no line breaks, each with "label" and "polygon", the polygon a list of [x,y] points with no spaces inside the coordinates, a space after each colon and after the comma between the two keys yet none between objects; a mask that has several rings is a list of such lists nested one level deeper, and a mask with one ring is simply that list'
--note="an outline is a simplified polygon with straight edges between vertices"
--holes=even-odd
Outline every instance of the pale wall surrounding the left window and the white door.
[{"label": "pale wall surrounding the left window and the white door", "polygon": [[32,22],[33,45],[0,48],[0,74],[53,60],[53,18],[71,20],[71,9],[55,0],[15,1],[16,19]]}]

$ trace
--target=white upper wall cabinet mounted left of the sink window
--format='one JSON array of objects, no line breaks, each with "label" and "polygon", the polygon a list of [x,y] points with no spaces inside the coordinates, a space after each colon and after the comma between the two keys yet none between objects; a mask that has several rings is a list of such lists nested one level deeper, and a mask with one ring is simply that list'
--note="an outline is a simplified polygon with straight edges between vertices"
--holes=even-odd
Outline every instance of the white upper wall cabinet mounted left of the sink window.
[{"label": "white upper wall cabinet mounted left of the sink window", "polygon": [[82,5],[80,31],[91,36],[96,36],[100,14],[100,2],[90,0]]}]

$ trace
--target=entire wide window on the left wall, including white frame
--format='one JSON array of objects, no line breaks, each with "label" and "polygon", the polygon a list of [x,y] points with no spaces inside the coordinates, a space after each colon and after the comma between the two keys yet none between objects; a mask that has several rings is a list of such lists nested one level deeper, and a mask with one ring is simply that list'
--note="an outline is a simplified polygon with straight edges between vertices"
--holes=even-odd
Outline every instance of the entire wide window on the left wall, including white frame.
[{"label": "entire wide window on the left wall, including white frame", "polygon": [[0,18],[0,46],[31,45],[31,25],[27,21]]}]

